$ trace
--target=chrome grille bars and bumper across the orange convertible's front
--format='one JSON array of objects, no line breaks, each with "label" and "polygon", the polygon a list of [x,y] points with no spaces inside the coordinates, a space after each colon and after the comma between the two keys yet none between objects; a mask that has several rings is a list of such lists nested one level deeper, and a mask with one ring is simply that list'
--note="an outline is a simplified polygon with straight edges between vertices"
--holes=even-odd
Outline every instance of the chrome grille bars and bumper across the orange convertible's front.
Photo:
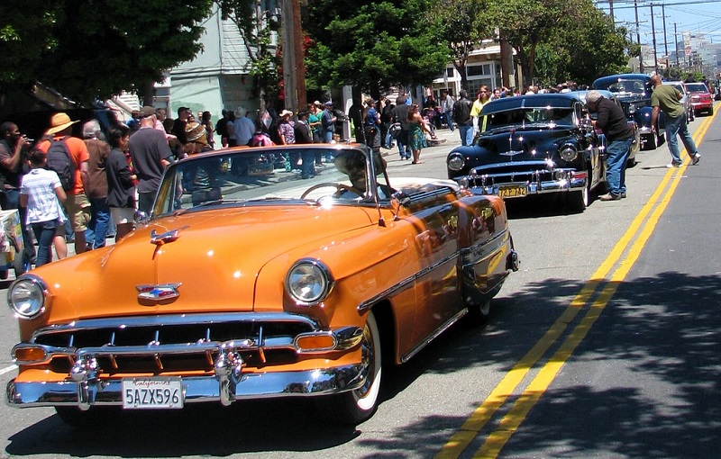
[{"label": "chrome grille bars and bumper across the orange convertible's front", "polygon": [[[210,337],[219,335],[223,327],[234,324],[254,324],[256,331],[241,338],[214,341],[197,339],[198,336]],[[263,333],[272,329],[275,323],[301,324],[304,327],[297,335],[275,335]],[[196,326],[202,325],[201,332]],[[207,328],[207,329],[206,329]],[[148,330],[151,334],[148,334]],[[195,329],[196,333],[191,333]],[[130,338],[118,338],[115,331],[141,330]],[[178,333],[187,331],[178,338]],[[197,335],[199,333],[199,335]],[[241,332],[238,332],[241,333]],[[80,338],[75,338],[76,335]],[[103,346],[59,347],[48,343],[57,343],[65,339],[80,341],[83,336],[102,340],[109,344]],[[107,338],[112,336],[112,338]],[[142,339],[133,338],[154,336],[150,343],[141,344]],[[100,337],[100,338],[97,338]],[[61,339],[60,339],[61,338]],[[173,342],[173,338],[176,341]],[[326,338],[328,347],[304,347],[298,342],[304,338]],[[367,362],[360,361],[346,365],[323,368],[309,368],[297,371],[262,371],[262,367],[249,370],[243,360],[243,354],[254,352],[260,355],[278,349],[293,350],[306,356],[321,357],[329,352],[351,351],[360,345],[363,330],[357,327],[342,327],[323,330],[316,327],[315,322],[303,316],[289,314],[196,314],[188,316],[148,316],[136,318],[115,318],[102,320],[78,320],[72,324],[55,325],[36,330],[31,343],[21,343],[14,347],[13,356],[23,354],[27,349],[41,350],[37,360],[16,359],[16,364],[28,368],[47,368],[54,358],[69,359],[72,368],[65,374],[63,381],[28,381],[23,372],[7,384],[6,401],[16,408],[36,406],[78,406],[87,410],[94,405],[123,405],[123,377],[133,375],[168,374],[180,375],[184,393],[184,402],[220,401],[230,405],[241,399],[259,399],[297,395],[321,395],[346,392],[359,388],[366,382],[370,368]],[[168,344],[163,344],[168,343]],[[78,344],[78,343],[77,343]],[[121,344],[123,344],[121,346]],[[173,356],[203,356],[207,368],[212,365],[212,372],[201,370],[198,366],[183,371],[168,370],[164,372],[164,359]],[[27,357],[26,357],[27,358]],[[116,364],[121,358],[148,358],[156,366],[149,371],[118,369]],[[104,364],[105,363],[105,370]],[[327,360],[324,362],[328,362]],[[265,368],[272,368],[266,366]],[[207,372],[203,374],[203,372]],[[135,374],[133,374],[135,373]],[[113,376],[108,376],[113,374]]]}]

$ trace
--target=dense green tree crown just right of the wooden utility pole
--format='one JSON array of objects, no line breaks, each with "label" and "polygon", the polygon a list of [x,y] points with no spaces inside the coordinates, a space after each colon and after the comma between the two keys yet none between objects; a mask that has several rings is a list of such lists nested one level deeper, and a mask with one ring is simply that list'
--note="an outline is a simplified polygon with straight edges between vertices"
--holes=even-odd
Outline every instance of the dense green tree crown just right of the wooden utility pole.
[{"label": "dense green tree crown just right of the wooden utility pole", "polygon": [[309,87],[352,85],[378,97],[394,85],[427,84],[442,75],[449,52],[424,13],[434,0],[315,0],[306,31],[315,47],[306,59]]}]

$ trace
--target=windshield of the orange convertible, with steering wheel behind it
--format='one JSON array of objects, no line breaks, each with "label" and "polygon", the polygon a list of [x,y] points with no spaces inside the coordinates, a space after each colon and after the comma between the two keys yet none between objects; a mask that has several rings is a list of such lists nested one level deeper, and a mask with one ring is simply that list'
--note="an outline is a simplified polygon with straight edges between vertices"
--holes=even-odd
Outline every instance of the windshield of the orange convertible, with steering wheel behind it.
[{"label": "windshield of the orange convertible, with steering wheel behind it", "polygon": [[[153,216],[200,207],[293,201],[356,204],[375,202],[376,196],[388,201],[391,192],[384,174],[385,160],[374,155],[373,166],[382,183],[378,185],[368,178],[369,154],[360,148],[236,148],[196,155],[169,166]],[[369,188],[377,191],[370,193]]]}]

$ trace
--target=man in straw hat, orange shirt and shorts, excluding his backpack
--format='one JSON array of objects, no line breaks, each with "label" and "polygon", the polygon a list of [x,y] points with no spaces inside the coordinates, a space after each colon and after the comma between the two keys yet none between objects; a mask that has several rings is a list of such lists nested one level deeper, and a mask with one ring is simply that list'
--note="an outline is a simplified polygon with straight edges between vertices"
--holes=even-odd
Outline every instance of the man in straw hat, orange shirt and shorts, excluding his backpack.
[{"label": "man in straw hat, orange shirt and shorts, excluding his backpack", "polygon": [[[65,207],[68,211],[70,226],[75,231],[75,253],[81,254],[86,250],[85,230],[90,222],[90,201],[85,193],[90,183],[87,160],[90,155],[82,139],[72,137],[72,126],[79,120],[72,121],[67,113],[58,112],[50,118],[50,129],[45,132],[45,137],[52,137],[53,141],[64,140],[68,147],[70,159],[75,165],[75,185],[66,193]],[[46,154],[50,148],[50,139],[43,140],[38,145]]]}]

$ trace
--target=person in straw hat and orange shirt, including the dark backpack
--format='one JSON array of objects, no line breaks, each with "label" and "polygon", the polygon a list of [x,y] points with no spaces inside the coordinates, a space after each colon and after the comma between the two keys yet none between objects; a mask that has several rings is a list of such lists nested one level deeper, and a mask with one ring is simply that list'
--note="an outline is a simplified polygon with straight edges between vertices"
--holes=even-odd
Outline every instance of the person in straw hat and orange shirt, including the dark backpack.
[{"label": "person in straw hat and orange shirt, including the dark backpack", "polygon": [[90,155],[83,139],[72,136],[73,124],[68,113],[57,112],[50,118],[50,129],[45,132],[38,148],[45,152],[47,167],[54,170],[63,190],[68,195],[65,207],[70,226],[75,232],[75,253],[86,251],[85,231],[90,222],[90,201],[85,191],[90,183],[87,161]]}]

